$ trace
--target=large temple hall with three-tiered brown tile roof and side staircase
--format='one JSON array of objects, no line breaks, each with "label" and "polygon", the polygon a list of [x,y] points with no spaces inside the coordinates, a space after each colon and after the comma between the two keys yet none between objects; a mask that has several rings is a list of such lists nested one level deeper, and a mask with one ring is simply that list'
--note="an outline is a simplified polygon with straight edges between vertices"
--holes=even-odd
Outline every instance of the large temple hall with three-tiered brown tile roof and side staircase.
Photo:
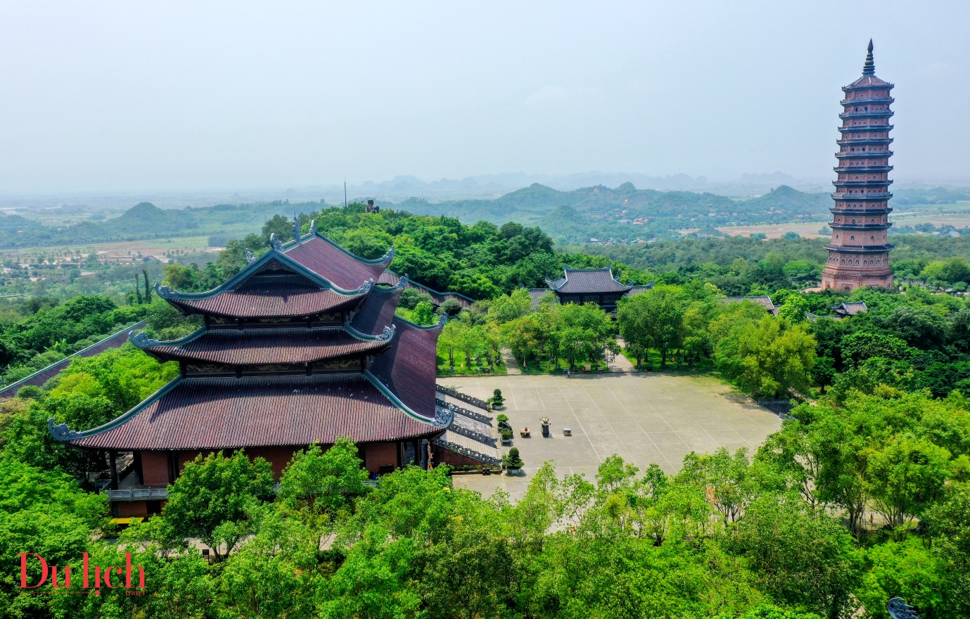
[{"label": "large temple hall with three-tiered brown tile roof and side staircase", "polygon": [[159,511],[185,463],[213,451],[262,456],[277,477],[294,452],[339,437],[357,442],[372,473],[501,462],[485,403],[436,387],[444,317],[423,327],[395,315],[408,280],[385,272],[394,248],[366,260],[313,224],[294,233],[288,244],[274,236],[258,259],[247,252],[249,265],[209,292],[156,284],[204,320],[174,342],[131,333],[158,361],[177,362],[177,378],[98,428],[49,420],[57,440],[109,454],[116,516]]}]

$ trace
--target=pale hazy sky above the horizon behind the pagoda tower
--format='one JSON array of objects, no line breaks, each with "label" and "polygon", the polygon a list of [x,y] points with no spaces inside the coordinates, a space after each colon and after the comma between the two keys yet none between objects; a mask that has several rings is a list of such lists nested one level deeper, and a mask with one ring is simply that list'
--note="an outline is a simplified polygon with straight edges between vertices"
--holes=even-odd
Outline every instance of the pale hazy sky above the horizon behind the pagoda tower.
[{"label": "pale hazy sky above the horizon behind the pagoda tower", "polygon": [[0,192],[828,179],[870,36],[892,178],[970,179],[970,3],[798,5],[5,2]]}]

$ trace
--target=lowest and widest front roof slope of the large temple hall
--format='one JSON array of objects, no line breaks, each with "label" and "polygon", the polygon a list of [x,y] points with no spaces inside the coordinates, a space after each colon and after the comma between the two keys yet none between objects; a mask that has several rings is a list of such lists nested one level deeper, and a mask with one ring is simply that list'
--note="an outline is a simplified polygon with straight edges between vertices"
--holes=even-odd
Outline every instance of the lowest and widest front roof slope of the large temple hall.
[{"label": "lowest and widest front roof slope of the large temple hall", "polygon": [[48,428],[57,440],[94,449],[236,449],[432,436],[452,421],[432,413],[414,415],[387,387],[359,374],[178,377],[98,428],[74,432],[53,419]]}]

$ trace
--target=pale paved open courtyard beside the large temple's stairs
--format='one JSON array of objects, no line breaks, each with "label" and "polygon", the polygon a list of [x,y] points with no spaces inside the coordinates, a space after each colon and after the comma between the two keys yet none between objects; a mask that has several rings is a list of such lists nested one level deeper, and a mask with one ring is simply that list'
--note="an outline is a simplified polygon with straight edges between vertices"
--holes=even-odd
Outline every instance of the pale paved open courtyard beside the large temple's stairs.
[{"label": "pale paved open courtyard beside the large temple's stairs", "polygon": [[[781,427],[769,410],[708,377],[664,374],[482,376],[438,378],[438,383],[486,399],[495,389],[505,398],[504,412],[515,430],[511,446],[526,466],[518,476],[455,475],[458,487],[489,495],[504,488],[515,499],[544,461],[559,473],[596,476],[599,463],[620,454],[641,471],[657,463],[676,472],[685,455],[727,447],[755,449]],[[496,414],[498,414],[498,412]],[[539,417],[551,421],[542,437]],[[519,436],[529,427],[531,439]],[[564,436],[570,428],[572,436]],[[508,451],[502,447],[501,451]]]}]

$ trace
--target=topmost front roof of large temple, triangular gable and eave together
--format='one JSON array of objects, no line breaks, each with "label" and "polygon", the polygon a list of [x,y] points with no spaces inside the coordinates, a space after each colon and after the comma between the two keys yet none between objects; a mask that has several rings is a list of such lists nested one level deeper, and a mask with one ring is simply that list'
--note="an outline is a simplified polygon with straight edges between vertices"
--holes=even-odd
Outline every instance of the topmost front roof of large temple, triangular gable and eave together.
[{"label": "topmost front roof of large temple, triangular gable and eave together", "polygon": [[270,249],[235,277],[206,292],[178,292],[155,284],[158,296],[185,313],[236,318],[308,316],[357,302],[373,287],[361,279],[342,288],[286,254]]}]

